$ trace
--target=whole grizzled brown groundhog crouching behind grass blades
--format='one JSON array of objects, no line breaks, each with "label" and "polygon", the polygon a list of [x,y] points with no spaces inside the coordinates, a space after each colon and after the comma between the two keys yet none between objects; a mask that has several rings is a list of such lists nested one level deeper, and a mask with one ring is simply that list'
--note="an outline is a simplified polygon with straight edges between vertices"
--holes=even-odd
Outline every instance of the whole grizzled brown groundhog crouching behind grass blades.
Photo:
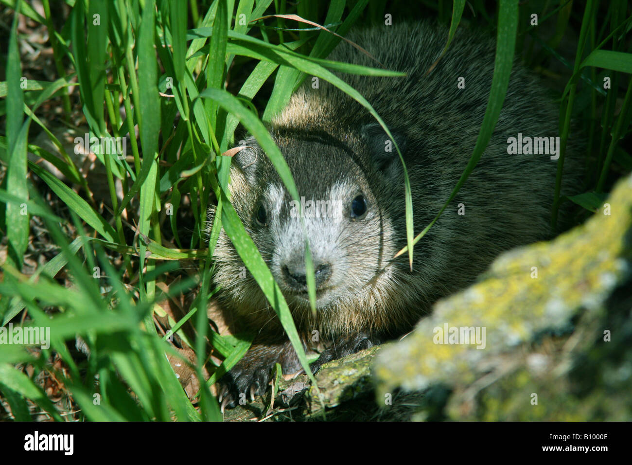
[{"label": "whole grizzled brown groundhog crouching behind grass blades", "polygon": [[[418,233],[447,201],[470,159],[489,98],[495,42],[459,30],[427,73],[446,44],[446,28],[422,22],[348,37],[387,69],[406,73],[339,77],[370,102],[394,135],[410,176]],[[345,42],[329,59],[378,66]],[[232,203],[281,287],[305,349],[320,352],[312,371],[410,331],[433,302],[473,282],[499,252],[552,235],[558,146],[549,138],[559,136],[558,116],[552,97],[516,61],[489,145],[456,199],[416,244],[411,271],[408,254],[394,259],[406,245],[398,152],[367,109],[334,85],[321,80],[314,89],[308,79],[269,131],[305,201],[315,316],[296,204],[257,141],[248,137],[238,143],[246,148],[233,158]],[[546,137],[552,142],[549,152],[530,152],[528,137]],[[571,140],[562,193],[573,192],[578,183],[580,163],[573,151]],[[335,208],[332,214],[307,214],[319,204]],[[243,262],[224,232],[214,260],[226,321],[234,331],[257,334],[245,357],[219,381],[223,411],[242,393],[251,399],[264,394],[275,363],[284,373],[301,366],[255,280],[249,274],[240,278]],[[312,342],[314,330],[318,346]]]}]

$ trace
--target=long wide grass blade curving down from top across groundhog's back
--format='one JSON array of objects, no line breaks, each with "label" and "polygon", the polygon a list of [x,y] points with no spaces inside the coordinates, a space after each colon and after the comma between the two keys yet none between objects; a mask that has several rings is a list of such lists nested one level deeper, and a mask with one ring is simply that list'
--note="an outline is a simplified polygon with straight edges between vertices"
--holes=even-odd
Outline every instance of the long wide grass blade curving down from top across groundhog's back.
[{"label": "long wide grass blade curving down from top across groundhog's back", "polygon": [[[499,15],[498,15],[498,33],[496,37],[496,58],[494,62],[494,77],[492,78],[492,87],[489,94],[489,100],[487,101],[487,109],[485,110],[485,116],[483,117],[483,124],[478,133],[478,139],[474,146],[473,154],[470,158],[468,165],[463,171],[461,178],[456,183],[450,197],[447,199],[441,211],[430,221],[430,224],[426,226],[422,232],[415,237],[413,244],[416,244],[425,233],[428,232],[430,227],[441,216],[443,211],[447,208],[449,203],[453,201],[456,193],[461,189],[461,186],[465,183],[468,176],[481,158],[485,147],[489,139],[492,137],[496,121],[501,113],[502,102],[504,102],[505,94],[507,92],[507,86],[509,85],[509,75],[511,74],[511,66],[513,65],[514,46],[516,42],[516,31],[518,30],[518,2],[503,1],[500,3]],[[408,247],[404,247],[396,254],[396,257],[403,254],[408,250]]]}]

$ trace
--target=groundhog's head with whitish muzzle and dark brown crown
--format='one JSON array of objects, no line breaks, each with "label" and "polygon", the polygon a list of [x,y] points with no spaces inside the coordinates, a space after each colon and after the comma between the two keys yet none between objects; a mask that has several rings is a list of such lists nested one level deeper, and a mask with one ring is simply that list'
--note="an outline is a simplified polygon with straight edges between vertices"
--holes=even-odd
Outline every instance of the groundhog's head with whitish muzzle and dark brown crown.
[{"label": "groundhog's head with whitish muzzle and dark brown crown", "polygon": [[[403,168],[396,149],[385,150],[389,138],[379,125],[369,123],[360,134],[340,140],[322,131],[272,131],[300,202],[255,139],[241,140],[245,148],[233,157],[231,202],[295,319],[309,306],[306,237],[320,312],[364,307],[367,302],[358,299],[374,298],[367,288],[379,286],[380,277],[391,272],[404,223]],[[404,137],[396,135],[396,142],[405,149]],[[395,223],[401,223],[399,230]],[[233,311],[254,318],[266,314],[264,294],[224,232],[214,257],[222,299]]]}]

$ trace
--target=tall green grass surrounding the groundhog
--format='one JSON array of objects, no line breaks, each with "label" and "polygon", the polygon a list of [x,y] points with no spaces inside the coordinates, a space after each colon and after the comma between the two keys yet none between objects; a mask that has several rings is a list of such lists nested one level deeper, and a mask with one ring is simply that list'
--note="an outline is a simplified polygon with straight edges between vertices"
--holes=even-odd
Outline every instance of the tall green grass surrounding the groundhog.
[{"label": "tall green grass surrounding the groundhog", "polygon": [[[0,398],[16,420],[34,418],[35,405],[39,418],[58,421],[221,420],[212,385],[253,339],[220,335],[209,325],[217,292],[212,257],[222,228],[315,383],[283,294],[231,205],[230,149],[236,131],[252,133],[298,200],[265,125],[308,76],[349,94],[388,133],[340,73],[400,73],[326,59],[354,25],[384,22],[387,13],[396,20],[433,15],[446,24],[446,49],[458,27],[475,22],[496,37],[487,111],[444,208],[483,156],[518,56],[557,86],[562,148],[553,224],[562,202],[587,214],[632,169],[625,145],[632,16],[625,1],[507,0],[493,10],[482,2],[466,8],[465,0],[42,0],[42,9],[24,0],[0,3],[11,18],[0,82],[0,323],[50,333],[49,347],[0,344]],[[46,32],[54,79],[27,77],[33,70],[20,46],[29,40],[20,18]],[[84,149],[94,154],[104,193],[51,129],[53,120],[89,141]],[[564,147],[578,133],[588,154],[584,193],[566,199],[559,194]],[[412,264],[414,245],[432,223],[413,231],[408,178],[394,189],[406,192],[408,246],[400,253]],[[207,225],[211,205],[216,215]],[[43,259],[33,264],[33,257]],[[313,301],[310,267],[308,283]],[[166,315],[170,304],[180,318]],[[197,380],[190,389],[176,364]],[[55,380],[63,402],[51,400],[46,379]]]}]

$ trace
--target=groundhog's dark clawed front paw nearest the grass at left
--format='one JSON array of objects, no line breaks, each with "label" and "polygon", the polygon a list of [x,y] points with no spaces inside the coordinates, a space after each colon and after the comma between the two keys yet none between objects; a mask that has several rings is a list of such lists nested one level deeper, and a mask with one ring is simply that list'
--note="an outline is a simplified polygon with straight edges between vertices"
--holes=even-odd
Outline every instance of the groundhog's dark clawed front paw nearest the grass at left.
[{"label": "groundhog's dark clawed front paw nearest the grass at left", "polygon": [[217,382],[222,413],[225,408],[234,409],[244,405],[255,396],[265,394],[270,380],[270,364],[253,367],[252,364],[238,363]]}]

